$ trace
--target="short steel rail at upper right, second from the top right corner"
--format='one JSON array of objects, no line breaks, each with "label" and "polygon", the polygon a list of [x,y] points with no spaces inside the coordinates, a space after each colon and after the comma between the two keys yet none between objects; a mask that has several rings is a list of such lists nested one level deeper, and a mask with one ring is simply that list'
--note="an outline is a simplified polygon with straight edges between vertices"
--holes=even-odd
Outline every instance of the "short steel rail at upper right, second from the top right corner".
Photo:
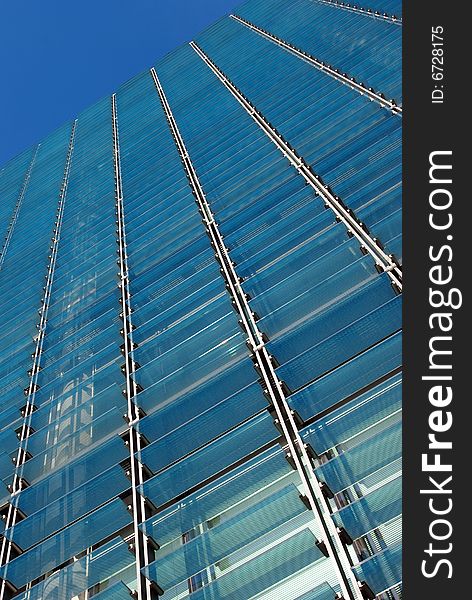
[{"label": "short steel rail at upper right, second from the top right corner", "polygon": [[387,98],[385,98],[382,92],[376,92],[372,88],[366,87],[363,83],[359,83],[355,80],[354,77],[348,75],[347,73],[341,73],[339,69],[336,69],[335,67],[326,64],[325,62],[315,58],[311,54],[308,54],[308,52],[305,52],[304,50],[295,47],[293,44],[286,42],[282,38],[279,38],[273,33],[270,33],[269,31],[262,29],[257,25],[254,25],[254,23],[251,23],[250,21],[247,21],[246,19],[243,19],[238,15],[230,15],[230,17],[238,23],[245,25],[251,31],[258,33],[263,38],[273,42],[274,44],[277,44],[277,46],[280,46],[287,52],[290,52],[290,54],[294,54],[298,58],[301,58],[302,60],[315,67],[319,71],[326,73],[326,75],[329,75],[333,79],[336,79],[336,81],[347,85],[352,90],[355,90],[362,96],[365,96],[366,98],[369,98],[369,100],[376,102],[377,104],[379,104],[379,106],[381,106],[382,108],[386,108],[387,110],[391,111],[394,115],[402,115],[403,111],[401,106],[397,106],[395,100],[387,100]]}]

